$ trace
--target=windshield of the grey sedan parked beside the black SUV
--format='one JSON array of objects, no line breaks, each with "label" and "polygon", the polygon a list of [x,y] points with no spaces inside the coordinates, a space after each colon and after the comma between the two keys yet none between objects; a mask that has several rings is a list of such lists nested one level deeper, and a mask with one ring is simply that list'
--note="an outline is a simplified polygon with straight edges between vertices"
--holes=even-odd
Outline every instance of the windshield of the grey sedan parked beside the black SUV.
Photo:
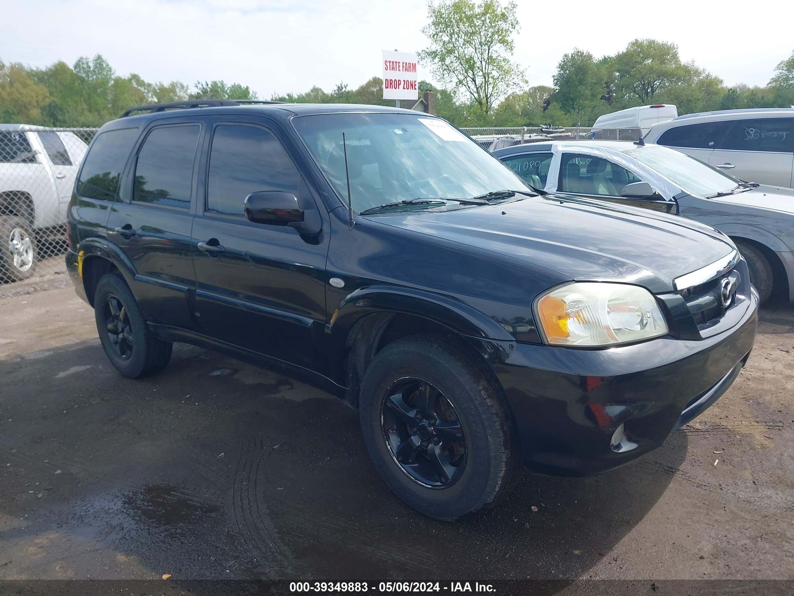
[{"label": "windshield of the grey sedan parked beside the black SUV", "polygon": [[626,151],[626,155],[653,168],[690,195],[730,192],[741,182],[703,161],[667,147],[639,147]]}]

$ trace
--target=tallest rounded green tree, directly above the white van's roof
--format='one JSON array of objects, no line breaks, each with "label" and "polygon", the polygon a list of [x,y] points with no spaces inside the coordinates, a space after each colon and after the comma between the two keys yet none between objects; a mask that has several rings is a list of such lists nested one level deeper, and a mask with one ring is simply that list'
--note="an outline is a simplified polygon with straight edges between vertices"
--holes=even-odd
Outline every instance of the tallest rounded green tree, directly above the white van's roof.
[{"label": "tallest rounded green tree, directly above the white van's roof", "polygon": [[678,46],[653,39],[631,41],[611,66],[615,93],[628,105],[651,103],[654,95],[684,82],[688,74],[678,56]]}]

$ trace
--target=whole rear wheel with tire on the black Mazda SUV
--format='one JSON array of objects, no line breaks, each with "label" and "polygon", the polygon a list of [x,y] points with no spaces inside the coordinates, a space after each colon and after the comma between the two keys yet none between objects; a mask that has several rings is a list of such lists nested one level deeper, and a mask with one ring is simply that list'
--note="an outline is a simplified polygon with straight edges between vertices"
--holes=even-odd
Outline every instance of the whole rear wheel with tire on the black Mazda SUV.
[{"label": "whole rear wheel with tire on the black Mazda SUV", "polygon": [[100,278],[94,293],[94,318],[107,358],[125,377],[159,373],[171,360],[174,344],[152,334],[133,292],[118,273]]}]

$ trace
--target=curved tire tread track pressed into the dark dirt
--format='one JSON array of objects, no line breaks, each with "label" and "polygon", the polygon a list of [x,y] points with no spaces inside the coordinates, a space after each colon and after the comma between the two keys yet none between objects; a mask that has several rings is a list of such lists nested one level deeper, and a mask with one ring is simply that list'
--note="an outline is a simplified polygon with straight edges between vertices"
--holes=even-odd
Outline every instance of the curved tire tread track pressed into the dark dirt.
[{"label": "curved tire tread track pressed into the dark dirt", "polygon": [[249,439],[242,443],[240,456],[234,466],[234,486],[231,493],[232,519],[245,546],[257,554],[269,579],[278,579],[291,573],[294,561],[291,552],[283,545],[268,513],[264,500],[267,482],[264,461],[267,459],[262,439]]}]

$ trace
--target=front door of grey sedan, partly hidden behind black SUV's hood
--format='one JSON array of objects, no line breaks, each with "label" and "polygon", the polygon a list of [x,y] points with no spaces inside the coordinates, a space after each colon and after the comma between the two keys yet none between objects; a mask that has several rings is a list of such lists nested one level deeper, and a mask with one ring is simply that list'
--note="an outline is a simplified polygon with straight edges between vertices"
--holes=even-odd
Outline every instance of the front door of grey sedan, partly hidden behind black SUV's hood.
[{"label": "front door of grey sedan, partly hidden behind black SUV's hood", "polygon": [[642,182],[634,172],[603,157],[563,153],[560,161],[560,192],[572,195],[592,196],[611,203],[622,203],[631,207],[642,207],[663,213],[677,212],[674,201],[622,196],[626,184]]}]

